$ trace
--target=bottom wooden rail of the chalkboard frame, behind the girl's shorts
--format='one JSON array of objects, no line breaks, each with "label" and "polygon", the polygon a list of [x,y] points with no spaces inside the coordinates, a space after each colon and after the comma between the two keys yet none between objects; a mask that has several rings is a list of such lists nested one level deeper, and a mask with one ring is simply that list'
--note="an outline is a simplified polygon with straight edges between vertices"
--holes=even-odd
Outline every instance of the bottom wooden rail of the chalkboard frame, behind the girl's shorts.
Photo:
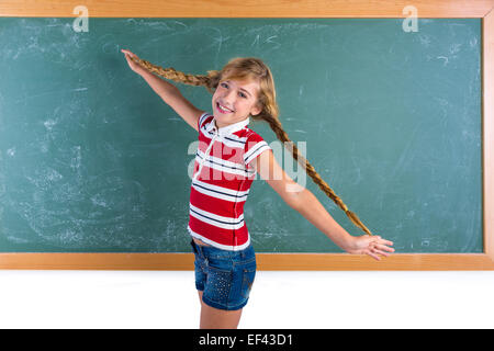
[{"label": "bottom wooden rail of the chalkboard frame, behind the girl's shorts", "polygon": [[[381,261],[348,253],[256,253],[260,271],[494,270],[485,253],[396,253]],[[4,270],[193,270],[192,253],[0,253]]]}]

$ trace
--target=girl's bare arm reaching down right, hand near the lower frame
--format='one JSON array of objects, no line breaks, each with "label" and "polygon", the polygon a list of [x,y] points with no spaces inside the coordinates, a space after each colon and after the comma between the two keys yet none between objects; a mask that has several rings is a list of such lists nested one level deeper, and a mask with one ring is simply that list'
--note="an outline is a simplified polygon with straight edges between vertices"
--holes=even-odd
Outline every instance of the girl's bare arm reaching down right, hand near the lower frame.
[{"label": "girl's bare arm reaching down right, hand near the lower frame", "polygon": [[292,208],[323,231],[337,246],[349,253],[369,254],[380,260],[379,254],[389,256],[393,242],[380,236],[353,237],[348,234],[324,208],[317,197],[293,181],[279,166],[271,150],[260,154],[252,166],[257,172]]}]

